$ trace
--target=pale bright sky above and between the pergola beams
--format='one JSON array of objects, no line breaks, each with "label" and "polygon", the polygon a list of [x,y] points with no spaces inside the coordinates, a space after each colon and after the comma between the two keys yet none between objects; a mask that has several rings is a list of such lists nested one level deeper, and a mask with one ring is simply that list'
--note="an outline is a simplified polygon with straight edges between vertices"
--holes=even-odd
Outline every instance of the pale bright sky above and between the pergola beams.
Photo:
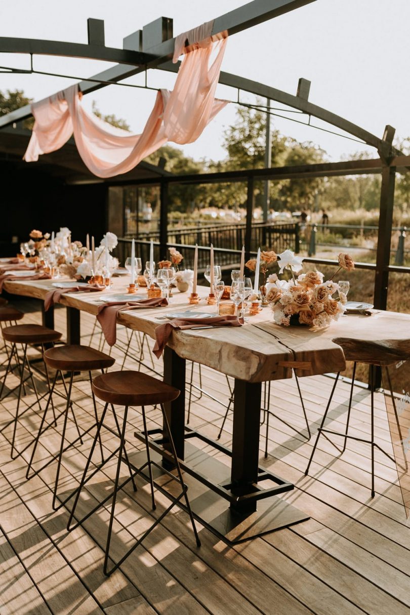
[{"label": "pale bright sky above and between the pergola beams", "polygon": [[[173,18],[174,36],[245,4],[244,0],[71,0],[69,10],[55,0],[0,2],[0,37],[87,42],[87,18],[104,19],[105,41],[122,47],[122,39],[158,17]],[[269,22],[229,38],[222,70],[296,94],[299,77],[312,82],[309,101],[349,119],[382,137],[384,127],[396,137],[410,137],[410,76],[408,24],[410,0],[316,0]],[[27,55],[0,54],[0,66],[29,68]],[[111,66],[78,58],[34,57],[34,68],[86,78]],[[76,80],[60,77],[1,74],[0,90],[22,89],[34,100]],[[143,84],[144,76],[128,79]],[[148,72],[148,85],[172,89],[175,76]],[[236,100],[237,91],[219,85],[216,95]],[[84,97],[95,100],[103,114],[124,118],[139,133],[154,103],[154,92],[110,85]],[[241,100],[254,97],[241,93]],[[280,107],[281,105],[272,106]],[[237,105],[227,105],[184,153],[195,159],[224,159],[224,130],[235,121]],[[278,112],[280,113],[280,112]],[[300,119],[300,118],[298,118]],[[316,124],[333,127],[315,121]],[[376,151],[369,146],[329,135],[286,119],[271,124],[298,141],[325,149],[329,161]],[[337,130],[337,129],[336,129]]]}]

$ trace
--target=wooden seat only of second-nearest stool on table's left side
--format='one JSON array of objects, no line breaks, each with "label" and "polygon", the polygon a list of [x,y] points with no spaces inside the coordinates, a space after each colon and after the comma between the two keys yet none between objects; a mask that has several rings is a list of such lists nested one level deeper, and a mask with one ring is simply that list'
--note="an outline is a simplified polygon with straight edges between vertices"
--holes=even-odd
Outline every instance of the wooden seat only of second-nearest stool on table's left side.
[{"label": "wooden seat only of second-nearest stool on table's left side", "polygon": [[44,352],[44,361],[54,370],[63,371],[104,370],[116,362],[104,352],[79,344],[49,348]]}]

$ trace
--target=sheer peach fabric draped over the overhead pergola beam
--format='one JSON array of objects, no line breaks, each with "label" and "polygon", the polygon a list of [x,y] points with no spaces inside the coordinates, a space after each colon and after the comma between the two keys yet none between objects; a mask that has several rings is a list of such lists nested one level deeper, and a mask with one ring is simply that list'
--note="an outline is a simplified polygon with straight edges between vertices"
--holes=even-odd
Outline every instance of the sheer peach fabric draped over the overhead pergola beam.
[{"label": "sheer peach fabric draped over the overhead pergola beam", "polygon": [[[192,31],[195,36],[209,30],[200,28]],[[194,41],[190,33],[180,36]],[[227,105],[226,100],[215,99],[226,36],[221,33],[216,41],[208,36],[184,55],[173,91],[159,90],[141,135],[117,129],[88,113],[78,85],[33,103],[36,122],[25,161],[36,161],[39,155],[60,149],[74,133],[84,164],[97,177],[106,178],[127,173],[167,141],[183,145],[197,140]]]}]

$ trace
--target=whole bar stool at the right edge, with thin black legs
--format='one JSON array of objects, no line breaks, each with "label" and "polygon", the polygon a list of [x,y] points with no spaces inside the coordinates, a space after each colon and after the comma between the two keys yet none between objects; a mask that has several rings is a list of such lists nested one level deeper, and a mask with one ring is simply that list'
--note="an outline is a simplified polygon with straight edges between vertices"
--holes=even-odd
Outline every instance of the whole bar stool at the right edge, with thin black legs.
[{"label": "whole bar stool at the right edge, with thin black legs", "polygon": [[[316,437],[315,444],[313,445],[312,454],[310,455],[309,463],[307,464],[307,468],[305,470],[305,475],[309,472],[310,464],[312,463],[313,455],[315,454],[315,450],[318,444],[318,440],[323,434],[331,444],[339,451],[339,453],[344,453],[347,443],[347,438],[351,438],[352,440],[357,440],[357,442],[365,442],[366,444],[371,445],[371,496],[374,498],[374,449],[377,448],[379,451],[385,454],[389,459],[395,462],[395,459],[388,454],[379,444],[374,442],[374,372],[376,367],[384,367],[387,371],[388,375],[388,386],[390,388],[390,395],[392,395],[393,399],[393,391],[392,384],[390,381],[390,373],[388,371],[388,367],[391,365],[395,365],[400,361],[408,361],[410,359],[410,339],[402,339],[402,340],[378,340],[378,341],[368,341],[366,339],[350,339],[350,338],[334,338],[332,340],[335,344],[339,344],[342,347],[345,359],[347,361],[353,361],[353,375],[352,375],[352,386],[350,387],[350,397],[349,397],[349,408],[347,410],[347,418],[346,418],[346,427],[345,432],[336,432],[331,429],[324,429],[324,424],[326,421],[326,416],[328,415],[329,407],[331,400],[333,398],[334,389],[336,389],[337,379],[339,378],[339,373],[337,373],[336,380],[334,381],[333,389],[331,391],[328,405],[326,406],[325,414],[323,415],[323,419],[321,421],[320,427],[318,428],[318,433]],[[355,383],[355,374],[357,363],[365,363],[365,365],[369,365],[370,372],[370,403],[371,403],[371,418],[370,418],[370,440],[367,438],[358,438],[354,435],[349,435],[347,432],[349,431],[349,421],[350,421],[350,410],[352,409],[352,399],[353,399],[353,386]],[[395,404],[393,404],[395,408]],[[400,424],[398,421],[398,416],[395,408],[396,415],[396,423],[398,428],[398,433],[401,437]],[[332,435],[340,435],[344,438],[344,445],[342,450],[340,450],[328,437],[326,434]],[[405,456],[404,456],[405,459]]]}]

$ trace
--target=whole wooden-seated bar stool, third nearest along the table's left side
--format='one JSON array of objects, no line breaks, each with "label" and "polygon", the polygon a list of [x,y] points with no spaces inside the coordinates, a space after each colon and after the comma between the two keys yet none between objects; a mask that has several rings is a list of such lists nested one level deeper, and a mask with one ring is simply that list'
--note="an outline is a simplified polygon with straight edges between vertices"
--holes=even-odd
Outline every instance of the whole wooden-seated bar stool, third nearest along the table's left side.
[{"label": "whole wooden-seated bar stool, third nearest along the table's left side", "polygon": [[[16,357],[18,357],[17,346],[19,346],[21,344],[21,346],[23,347],[23,360],[22,360],[22,363],[21,363],[21,367],[19,368],[19,371],[20,371],[20,384],[18,384],[16,387],[14,387],[14,389],[11,389],[9,391],[9,394],[11,394],[13,391],[15,391],[15,389],[18,388],[17,408],[16,408],[16,411],[15,411],[15,417],[11,421],[9,421],[9,423],[4,425],[2,427],[2,429],[1,429],[1,431],[3,431],[10,424],[14,423],[13,436],[12,436],[12,442],[11,442],[11,446],[12,446],[12,448],[11,448],[11,457],[12,457],[12,459],[14,459],[13,451],[15,449],[14,443],[15,443],[15,434],[16,434],[18,419],[21,418],[28,410],[33,408],[34,405],[36,405],[36,404],[39,405],[39,409],[41,411],[40,400],[43,397],[45,397],[45,395],[47,395],[47,392],[45,392],[43,395],[39,396],[39,394],[37,392],[37,387],[36,387],[36,383],[34,382],[33,371],[31,370],[30,361],[27,359],[27,349],[28,349],[28,346],[34,346],[34,345],[35,346],[41,346],[42,355],[44,355],[45,344],[53,344],[54,342],[58,341],[61,338],[62,334],[59,333],[58,331],[53,330],[53,329],[49,329],[47,327],[42,327],[42,325],[12,325],[11,327],[4,327],[4,329],[2,330],[2,335],[3,335],[3,338],[4,338],[5,341],[8,341],[8,342],[10,342],[12,344],[12,349],[10,350],[9,361],[7,362],[6,373],[4,374],[4,378],[3,378],[3,381],[2,381],[2,386],[1,386],[1,391],[0,391],[0,399],[2,399],[2,394],[3,394],[3,390],[4,390],[4,385],[6,384],[7,375],[9,374],[10,371],[12,371],[11,368],[10,368],[11,362],[12,362],[12,357],[14,355]],[[17,361],[19,362],[20,359],[17,359]],[[28,372],[27,376],[25,376],[25,370]],[[50,391],[50,378],[49,378],[49,371],[47,370],[47,365],[45,365],[45,376],[46,376],[46,379],[47,379],[48,391]],[[28,407],[26,407],[25,410],[23,410],[22,413],[20,413],[20,415],[19,415],[20,402],[21,402],[21,399],[22,399],[22,389],[23,389],[24,384],[28,380],[31,381],[31,384],[33,386],[34,393],[36,394],[36,401],[34,401]],[[30,446],[30,445],[31,445],[31,443],[28,444],[27,446],[25,446],[25,448],[23,448],[23,450],[21,450],[18,453],[18,455],[22,454],[26,450],[26,448],[28,448],[28,446]]]}]

